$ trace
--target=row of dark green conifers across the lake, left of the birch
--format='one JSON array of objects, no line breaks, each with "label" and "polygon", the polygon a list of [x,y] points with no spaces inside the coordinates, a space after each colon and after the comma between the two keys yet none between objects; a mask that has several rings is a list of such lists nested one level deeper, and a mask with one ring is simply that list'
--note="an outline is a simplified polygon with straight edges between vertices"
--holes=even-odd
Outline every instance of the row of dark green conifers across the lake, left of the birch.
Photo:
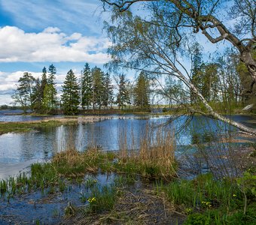
[{"label": "row of dark green conifers across the lake, left of the birch", "polygon": [[72,70],[66,74],[60,98],[57,97],[55,80],[54,65],[50,65],[48,70],[44,67],[41,78],[38,79],[25,72],[20,77],[12,98],[24,113],[30,109],[35,113],[63,112],[74,115],[78,113],[79,107],[93,111],[108,110],[114,105],[118,109],[131,104],[134,108],[144,110],[150,107],[150,83],[144,73],[139,74],[133,85],[124,74],[116,75],[114,86],[110,74],[97,67],[91,69],[86,63],[79,79]]}]

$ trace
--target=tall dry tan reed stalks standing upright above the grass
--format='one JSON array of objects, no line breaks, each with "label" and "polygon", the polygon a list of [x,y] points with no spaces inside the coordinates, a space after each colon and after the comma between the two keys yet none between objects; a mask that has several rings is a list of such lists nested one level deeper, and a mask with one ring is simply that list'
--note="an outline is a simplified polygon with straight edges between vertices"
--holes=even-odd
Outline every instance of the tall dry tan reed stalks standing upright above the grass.
[{"label": "tall dry tan reed stalks standing upright above the grass", "polygon": [[127,133],[124,127],[120,131],[118,141],[119,158],[123,163],[134,163],[157,170],[163,177],[175,175],[175,135],[169,127],[152,127],[147,124],[136,136],[133,129]]}]

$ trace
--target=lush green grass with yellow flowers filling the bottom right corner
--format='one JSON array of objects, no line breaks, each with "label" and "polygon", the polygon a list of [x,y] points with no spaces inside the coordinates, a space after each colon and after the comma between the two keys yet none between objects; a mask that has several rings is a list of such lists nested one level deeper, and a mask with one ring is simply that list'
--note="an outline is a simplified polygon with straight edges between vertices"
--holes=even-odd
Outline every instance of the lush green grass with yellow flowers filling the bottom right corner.
[{"label": "lush green grass with yellow flowers filling the bottom right corner", "polygon": [[[253,177],[253,175],[251,175]],[[256,195],[254,179],[247,176],[234,180],[215,180],[211,174],[200,175],[192,181],[175,180],[156,184],[157,193],[164,193],[177,210],[187,214],[184,224],[256,224]],[[245,196],[239,180],[246,179]],[[250,184],[249,184],[250,182]]]}]

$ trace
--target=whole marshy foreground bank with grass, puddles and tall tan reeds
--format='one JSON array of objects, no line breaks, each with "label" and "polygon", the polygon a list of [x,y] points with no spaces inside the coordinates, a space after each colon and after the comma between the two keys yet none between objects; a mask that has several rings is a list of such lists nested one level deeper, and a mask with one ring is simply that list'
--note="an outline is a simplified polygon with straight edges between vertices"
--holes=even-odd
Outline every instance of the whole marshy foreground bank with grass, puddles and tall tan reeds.
[{"label": "whole marshy foreground bank with grass, puddles and tall tan reeds", "polygon": [[[206,174],[181,180],[173,133],[147,129],[137,150],[126,133],[120,133],[118,152],[96,145],[77,151],[70,144],[50,162],[32,164],[29,174],[0,181],[5,221],[5,208],[20,201],[38,215],[29,217],[32,224],[255,223],[255,168],[236,179]],[[42,205],[50,218],[39,213]]]}]

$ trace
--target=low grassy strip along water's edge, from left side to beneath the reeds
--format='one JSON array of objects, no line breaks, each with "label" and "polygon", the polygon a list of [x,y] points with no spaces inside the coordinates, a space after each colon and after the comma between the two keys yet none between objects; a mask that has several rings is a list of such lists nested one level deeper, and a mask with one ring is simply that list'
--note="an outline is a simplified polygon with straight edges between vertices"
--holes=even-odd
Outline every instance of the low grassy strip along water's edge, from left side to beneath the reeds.
[{"label": "low grassy strip along water's edge, from left side to beneath the reeds", "polygon": [[[171,166],[172,168],[172,166]],[[76,150],[62,151],[53,157],[49,163],[34,163],[31,166],[31,175],[25,173],[18,177],[0,181],[2,197],[27,193],[40,189],[41,193],[54,193],[66,190],[66,179],[81,183],[86,173],[117,172],[128,174],[127,181],[139,175],[142,178],[172,178],[173,171],[154,163],[140,162],[133,158],[119,158],[117,153],[90,148],[84,152]],[[166,172],[166,173],[165,173]],[[87,179],[86,186],[94,187],[95,180]]]}]

